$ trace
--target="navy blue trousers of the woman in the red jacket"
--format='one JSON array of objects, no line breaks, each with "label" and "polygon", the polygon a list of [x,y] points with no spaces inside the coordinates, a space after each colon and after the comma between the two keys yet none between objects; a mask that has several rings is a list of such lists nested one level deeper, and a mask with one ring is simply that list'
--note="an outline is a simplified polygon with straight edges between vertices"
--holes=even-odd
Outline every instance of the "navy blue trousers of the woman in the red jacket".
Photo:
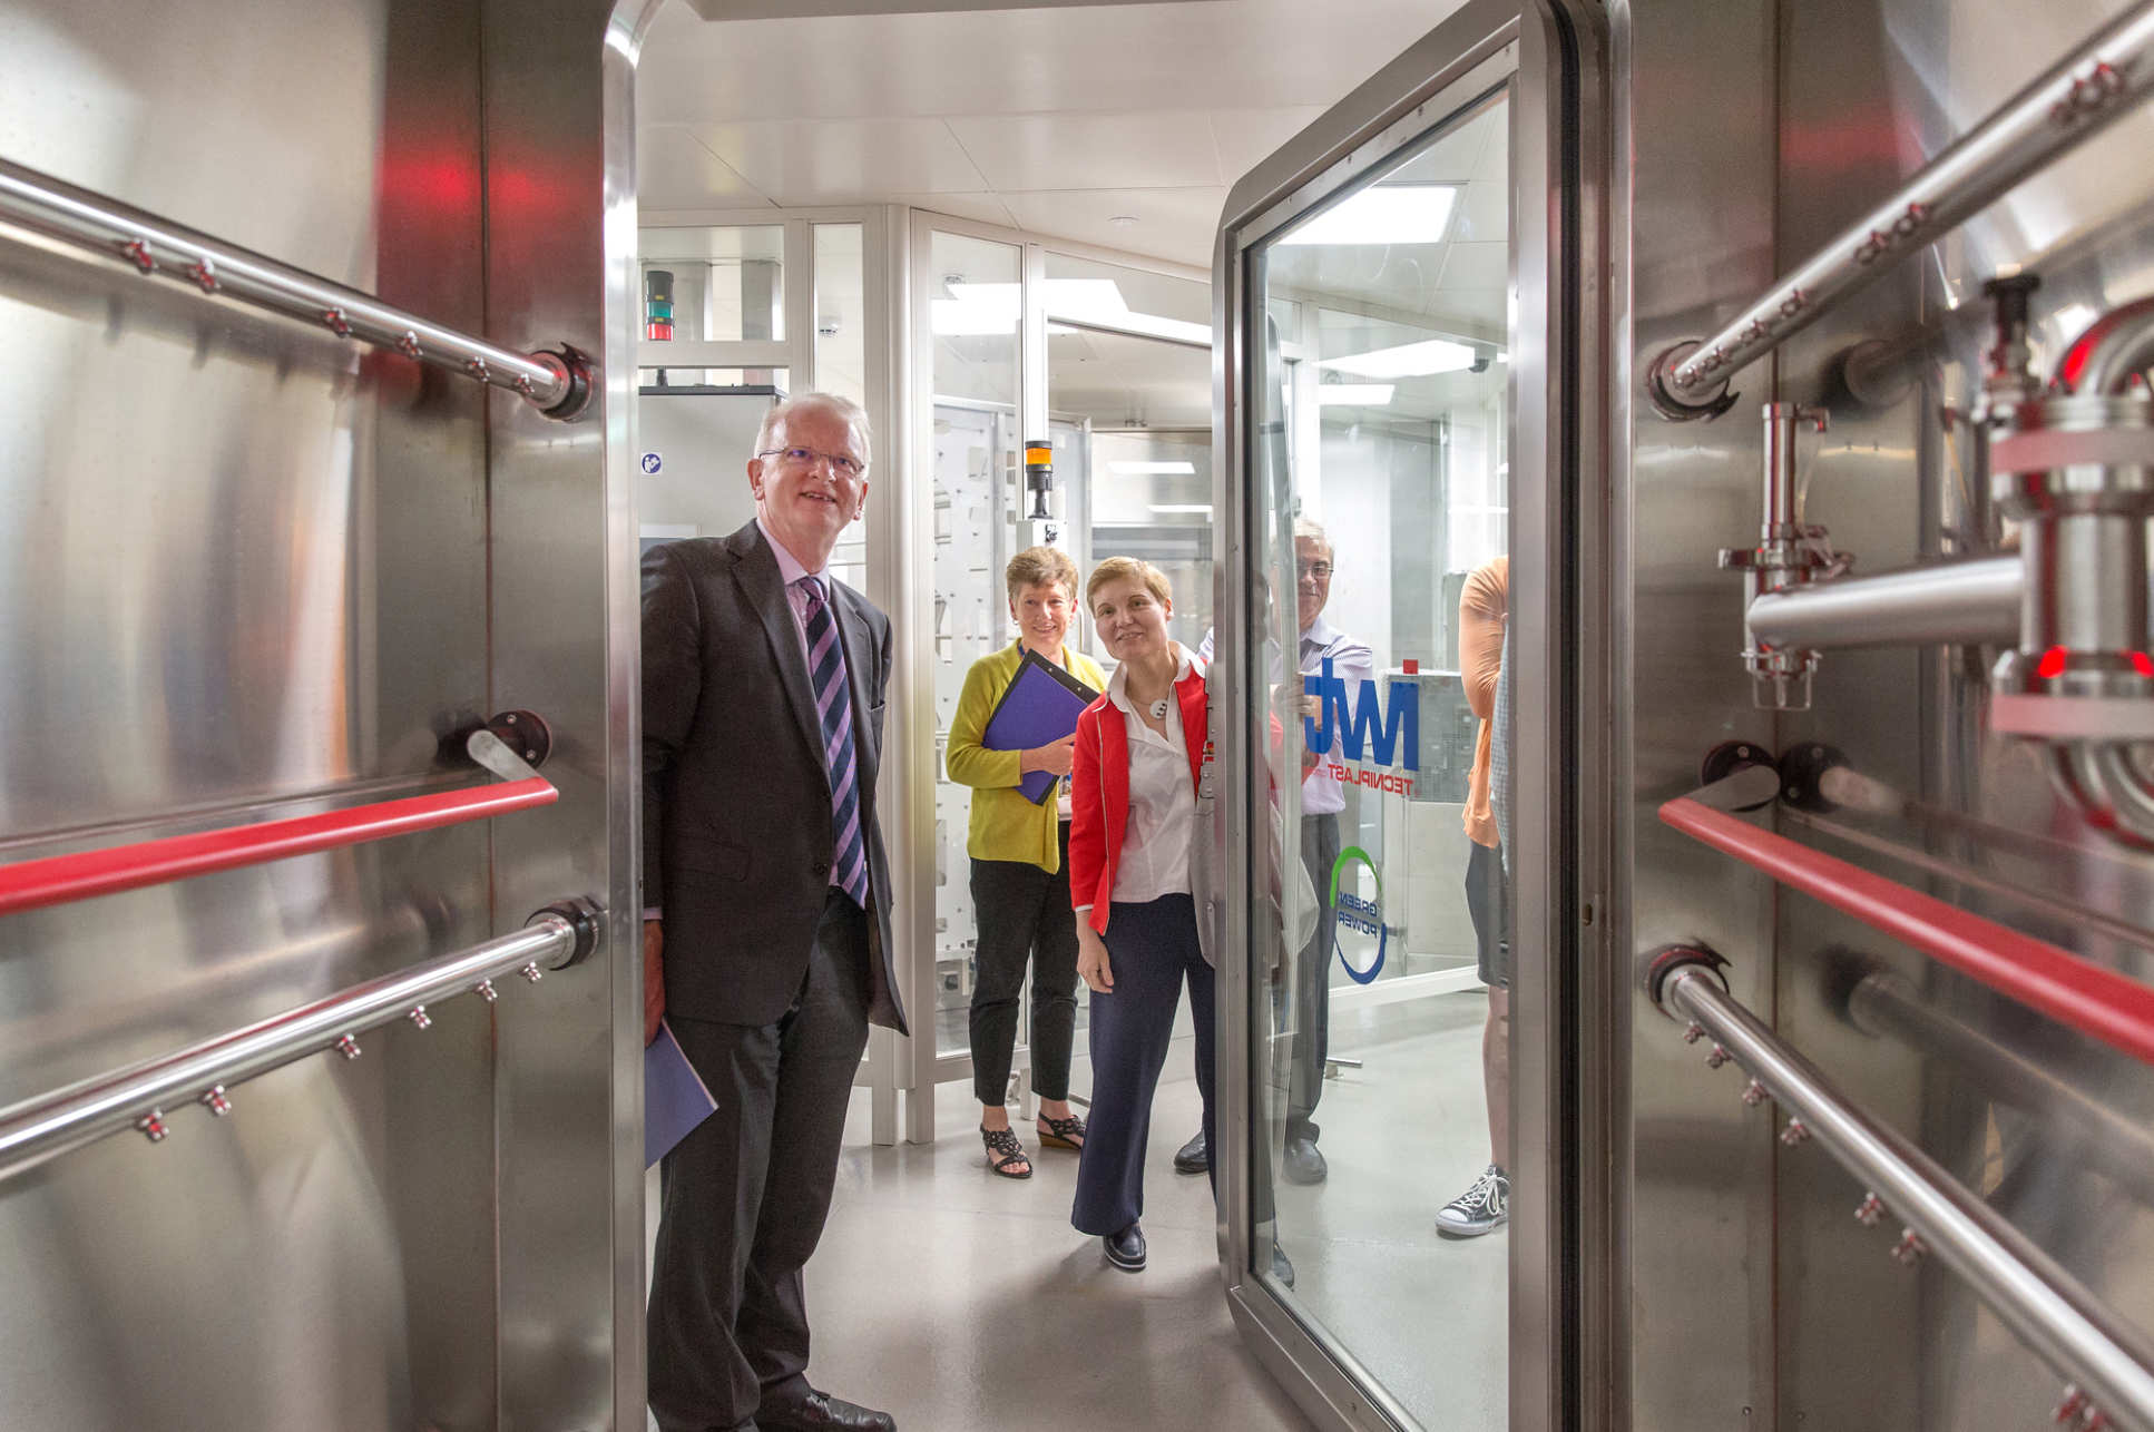
[{"label": "navy blue trousers of the woman in the red jacket", "polygon": [[1144,1143],[1152,1133],[1152,1090],[1167,1064],[1174,1006],[1189,982],[1198,1027],[1198,1096],[1204,1139],[1213,1141],[1213,967],[1198,945],[1189,896],[1161,896],[1107,911],[1107,965],[1114,993],[1092,995],[1092,1109],[1077,1159],[1081,1234],[1118,1234],[1144,1215]]}]

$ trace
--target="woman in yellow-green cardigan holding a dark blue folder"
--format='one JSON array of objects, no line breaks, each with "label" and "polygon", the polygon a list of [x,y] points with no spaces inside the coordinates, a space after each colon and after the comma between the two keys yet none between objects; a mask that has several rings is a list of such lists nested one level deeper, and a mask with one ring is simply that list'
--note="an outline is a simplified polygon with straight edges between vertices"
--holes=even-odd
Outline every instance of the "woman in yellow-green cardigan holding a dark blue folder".
[{"label": "woman in yellow-green cardigan holding a dark blue folder", "polygon": [[1071,1111],[1071,1042],[1077,1029],[1077,926],[1071,919],[1071,797],[1034,805],[1017,790],[1032,771],[1071,773],[1071,741],[1025,752],[980,745],[987,719],[1027,650],[1062,665],[1094,691],[1107,689],[1099,663],[1068,646],[1077,609],[1077,564],[1053,547],[1030,547],[1004,568],[1017,642],[980,657],[950,719],[946,767],[971,786],[971,909],[980,941],[971,986],[971,1087],[980,1096],[987,1163],[1004,1178],[1032,1178],[1010,1111],[1010,1053],[1017,999],[1032,960],[1032,1092],[1040,1096],[1038,1135],[1049,1148],[1083,1148],[1083,1120]]}]

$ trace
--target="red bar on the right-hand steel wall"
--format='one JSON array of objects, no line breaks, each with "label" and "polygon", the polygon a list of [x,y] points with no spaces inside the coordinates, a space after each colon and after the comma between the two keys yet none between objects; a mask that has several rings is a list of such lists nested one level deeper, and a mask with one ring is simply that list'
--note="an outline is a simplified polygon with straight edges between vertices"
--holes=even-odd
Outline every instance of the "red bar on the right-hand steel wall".
[{"label": "red bar on the right-hand steel wall", "polygon": [[1661,820],[1999,995],[2154,1064],[2154,988],[2137,980],[1689,797],[1663,805]]}]

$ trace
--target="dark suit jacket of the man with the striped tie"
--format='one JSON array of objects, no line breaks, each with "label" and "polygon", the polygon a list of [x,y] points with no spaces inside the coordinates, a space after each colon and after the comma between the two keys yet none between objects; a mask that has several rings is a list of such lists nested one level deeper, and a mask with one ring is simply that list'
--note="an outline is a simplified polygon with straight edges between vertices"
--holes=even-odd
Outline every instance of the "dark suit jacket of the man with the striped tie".
[{"label": "dark suit jacket of the man with the striped tie", "polygon": [[[903,1034],[875,810],[890,618],[829,586],[868,840],[870,1019]],[[644,904],[666,922],[670,1012],[728,1025],[786,1014],[829,894],[831,844],[808,661],[763,530],[655,547],[644,556]]]}]

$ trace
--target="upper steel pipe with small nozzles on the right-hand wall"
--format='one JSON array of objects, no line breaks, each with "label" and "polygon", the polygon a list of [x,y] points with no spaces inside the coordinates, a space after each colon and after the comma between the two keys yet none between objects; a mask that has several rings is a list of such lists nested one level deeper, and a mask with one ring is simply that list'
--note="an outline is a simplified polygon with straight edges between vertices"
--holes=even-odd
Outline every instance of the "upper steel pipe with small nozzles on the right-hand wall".
[{"label": "upper steel pipe with small nozzles on the right-hand wall", "polygon": [[1648,385],[1669,418],[1725,411],[1717,390],[1816,321],[1833,301],[1958,228],[2023,179],[2100,134],[2154,86],[2154,0],[2132,4],[2008,99],[1891,198],[1747,304],[1697,345],[1663,353]]}]

